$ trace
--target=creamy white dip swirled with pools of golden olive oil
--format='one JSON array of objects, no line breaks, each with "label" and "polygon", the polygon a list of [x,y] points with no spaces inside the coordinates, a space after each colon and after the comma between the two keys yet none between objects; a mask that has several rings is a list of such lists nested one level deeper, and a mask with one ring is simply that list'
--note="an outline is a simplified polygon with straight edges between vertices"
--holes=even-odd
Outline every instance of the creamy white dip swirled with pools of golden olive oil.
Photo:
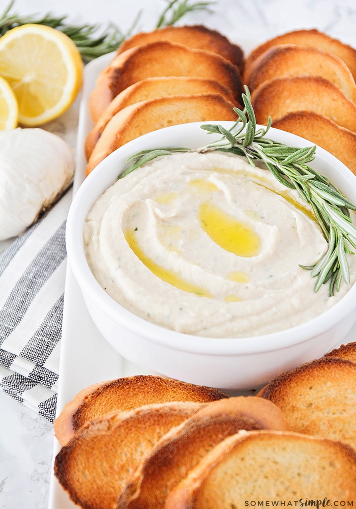
[{"label": "creamy white dip swirled with pools of golden olive oil", "polygon": [[286,329],[349,289],[314,293],[315,278],[299,266],[313,265],[327,242],[298,193],[218,152],[161,157],[118,180],[88,214],[84,242],[95,277],[117,302],[201,336]]}]

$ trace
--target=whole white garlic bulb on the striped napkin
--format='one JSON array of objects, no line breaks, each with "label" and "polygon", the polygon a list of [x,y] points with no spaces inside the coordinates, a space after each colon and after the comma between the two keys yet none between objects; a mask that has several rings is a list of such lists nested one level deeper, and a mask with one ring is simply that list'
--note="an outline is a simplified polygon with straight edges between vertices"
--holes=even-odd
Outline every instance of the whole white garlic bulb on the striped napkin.
[{"label": "whole white garlic bulb on the striped napkin", "polygon": [[41,128],[0,131],[0,240],[20,235],[68,187],[71,147]]}]

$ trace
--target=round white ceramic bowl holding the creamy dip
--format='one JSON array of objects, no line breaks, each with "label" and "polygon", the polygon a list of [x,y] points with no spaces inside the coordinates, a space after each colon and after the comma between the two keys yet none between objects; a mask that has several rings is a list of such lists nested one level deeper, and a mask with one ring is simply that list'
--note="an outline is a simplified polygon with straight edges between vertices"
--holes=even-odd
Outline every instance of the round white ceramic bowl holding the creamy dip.
[{"label": "round white ceramic bowl holding the creamy dip", "polygon": [[[230,122],[221,124],[231,126]],[[200,125],[199,122],[172,126],[146,134],[116,150],[98,165],[80,186],[69,211],[68,261],[94,323],[124,358],[152,372],[191,383],[251,389],[340,344],[356,319],[356,285],[327,312],[288,330],[244,338],[200,337],[147,322],[115,302],[93,276],[84,253],[85,217],[95,200],[126,167],[127,158],[141,149],[206,145],[214,136],[200,129]],[[303,138],[273,128],[268,136],[290,146],[312,145]],[[317,148],[316,158],[310,165],[328,176],[349,200],[356,202],[356,177],[338,159]]]}]

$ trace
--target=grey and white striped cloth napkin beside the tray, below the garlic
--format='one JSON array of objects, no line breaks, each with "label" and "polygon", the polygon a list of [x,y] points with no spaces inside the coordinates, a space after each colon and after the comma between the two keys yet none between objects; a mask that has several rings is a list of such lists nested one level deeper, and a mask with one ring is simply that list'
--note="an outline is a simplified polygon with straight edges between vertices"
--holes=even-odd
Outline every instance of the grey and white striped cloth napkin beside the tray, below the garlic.
[{"label": "grey and white striped cloth napkin beside the tray, below the garlic", "polygon": [[0,389],[53,422],[71,188],[0,254]]}]

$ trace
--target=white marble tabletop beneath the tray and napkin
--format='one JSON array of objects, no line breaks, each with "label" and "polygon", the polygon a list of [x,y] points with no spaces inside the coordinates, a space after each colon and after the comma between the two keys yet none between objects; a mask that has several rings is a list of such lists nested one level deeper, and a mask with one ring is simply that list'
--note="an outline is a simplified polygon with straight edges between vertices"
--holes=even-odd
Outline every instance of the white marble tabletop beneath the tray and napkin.
[{"label": "white marble tabletop beneath the tray and napkin", "polygon": [[[0,12],[8,4],[1,0]],[[139,28],[153,29],[166,5],[166,0],[61,0],[51,6],[47,0],[16,0],[14,8],[21,14],[51,11],[68,15],[73,23],[98,22],[103,27],[112,20],[125,32],[140,10]],[[237,43],[249,40],[252,47],[275,35],[312,27],[356,47],[354,0],[217,0],[212,9],[213,13],[194,13],[185,21],[216,28]],[[74,144],[75,112],[70,120],[61,119],[63,135],[69,130]],[[0,392],[0,508],[48,507],[52,444],[52,425]]]}]

